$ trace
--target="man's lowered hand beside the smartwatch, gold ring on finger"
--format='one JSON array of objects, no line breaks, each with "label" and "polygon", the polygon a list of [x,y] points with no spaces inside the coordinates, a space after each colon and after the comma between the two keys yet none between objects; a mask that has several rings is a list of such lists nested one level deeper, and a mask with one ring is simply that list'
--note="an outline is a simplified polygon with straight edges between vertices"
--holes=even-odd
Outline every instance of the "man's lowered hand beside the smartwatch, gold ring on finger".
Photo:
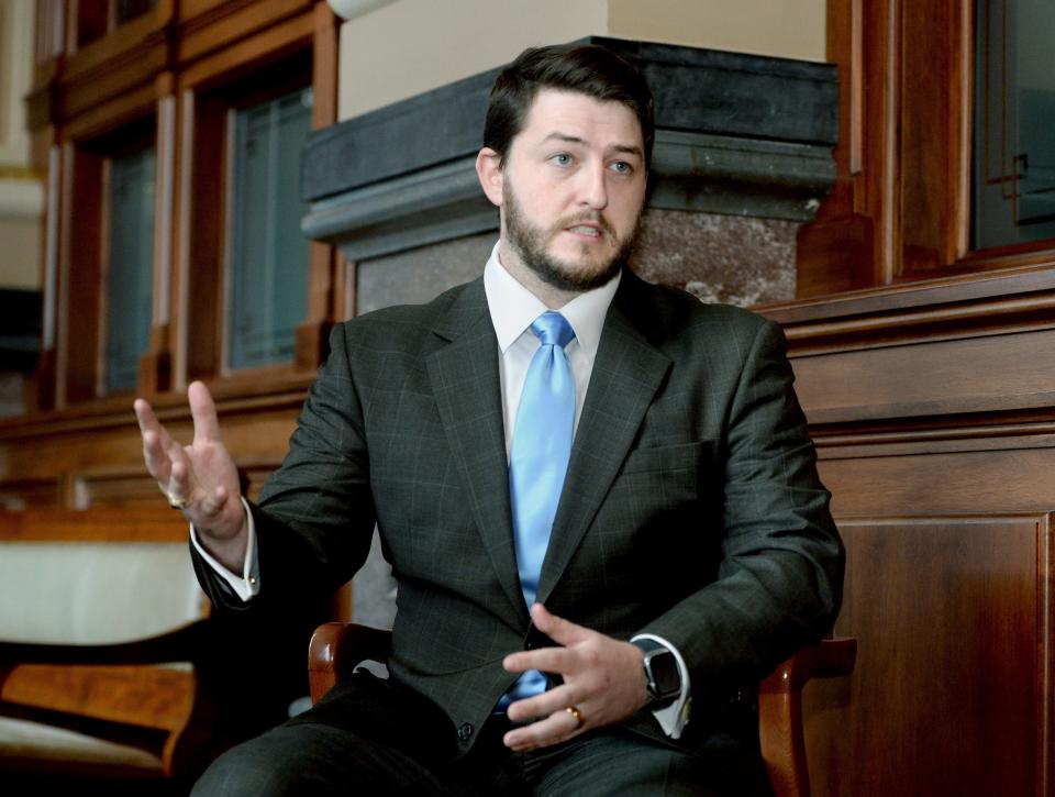
[{"label": "man's lowered hand beside the smartwatch, gold ring on finger", "polygon": [[540,719],[507,733],[506,746],[533,750],[556,744],[619,722],[648,702],[642,654],[635,645],[551,615],[542,604],[531,607],[531,618],[535,628],[562,646],[511,653],[502,665],[511,673],[559,673],[564,683],[510,704],[511,720]]}]

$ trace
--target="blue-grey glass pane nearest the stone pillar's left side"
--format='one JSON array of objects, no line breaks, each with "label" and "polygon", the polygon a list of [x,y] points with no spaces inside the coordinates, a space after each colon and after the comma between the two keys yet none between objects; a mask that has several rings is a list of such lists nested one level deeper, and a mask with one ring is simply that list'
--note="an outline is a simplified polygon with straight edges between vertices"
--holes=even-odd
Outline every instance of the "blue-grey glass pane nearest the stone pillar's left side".
[{"label": "blue-grey glass pane nearest the stone pillar's left side", "polygon": [[311,89],[236,111],[227,365],[292,359],[308,311],[308,241],[300,231],[300,157],[311,129]]}]

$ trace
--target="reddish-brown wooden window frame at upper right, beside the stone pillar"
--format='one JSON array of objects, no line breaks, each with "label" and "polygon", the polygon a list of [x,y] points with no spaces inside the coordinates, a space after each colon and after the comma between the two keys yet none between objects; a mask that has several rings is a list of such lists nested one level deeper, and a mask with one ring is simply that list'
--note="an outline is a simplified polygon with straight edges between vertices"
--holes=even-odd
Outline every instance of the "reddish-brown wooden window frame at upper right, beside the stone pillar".
[{"label": "reddish-brown wooden window frame at upper right, beside the stone pillar", "polygon": [[1055,266],[1055,240],[971,251],[974,0],[828,0],[837,180],[799,233],[799,295]]}]

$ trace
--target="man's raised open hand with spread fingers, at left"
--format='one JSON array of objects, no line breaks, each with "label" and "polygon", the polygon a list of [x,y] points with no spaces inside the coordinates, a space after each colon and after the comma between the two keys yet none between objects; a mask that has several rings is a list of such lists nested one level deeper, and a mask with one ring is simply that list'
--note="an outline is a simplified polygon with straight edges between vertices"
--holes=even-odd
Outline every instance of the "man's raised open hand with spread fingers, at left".
[{"label": "man's raised open hand with spread fingers, at left", "polygon": [[225,567],[240,573],[247,532],[238,472],[220,441],[216,407],[209,389],[200,381],[191,383],[187,398],[195,439],[186,446],[169,435],[149,403],[135,400],[143,460],[169,503],[195,524],[199,541]]}]

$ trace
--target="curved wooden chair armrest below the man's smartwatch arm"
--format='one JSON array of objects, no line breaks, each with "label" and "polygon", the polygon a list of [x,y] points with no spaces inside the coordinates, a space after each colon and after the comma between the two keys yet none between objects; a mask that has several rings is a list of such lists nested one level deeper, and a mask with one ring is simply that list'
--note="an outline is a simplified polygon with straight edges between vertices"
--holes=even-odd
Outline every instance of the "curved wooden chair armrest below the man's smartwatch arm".
[{"label": "curved wooden chair armrest below the man's smartwatch arm", "polygon": [[762,682],[758,740],[777,797],[809,797],[810,775],[802,729],[802,687],[812,678],[854,672],[857,640],[824,639],[803,647]]}]

